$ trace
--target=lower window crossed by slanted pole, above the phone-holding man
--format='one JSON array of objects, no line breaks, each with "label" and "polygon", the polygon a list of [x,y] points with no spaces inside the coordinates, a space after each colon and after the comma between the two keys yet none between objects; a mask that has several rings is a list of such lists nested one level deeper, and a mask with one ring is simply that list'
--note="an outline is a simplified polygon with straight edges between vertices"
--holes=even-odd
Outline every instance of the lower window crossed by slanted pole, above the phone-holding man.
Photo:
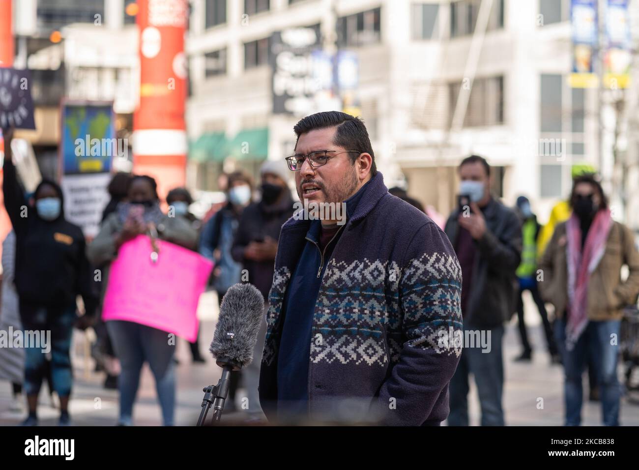
[{"label": "lower window crossed by slanted pole, above the phone-holding man", "polygon": [[[449,84],[449,121],[457,106],[459,82]],[[504,77],[475,79],[470,89],[464,127],[498,125],[504,123]]]}]

